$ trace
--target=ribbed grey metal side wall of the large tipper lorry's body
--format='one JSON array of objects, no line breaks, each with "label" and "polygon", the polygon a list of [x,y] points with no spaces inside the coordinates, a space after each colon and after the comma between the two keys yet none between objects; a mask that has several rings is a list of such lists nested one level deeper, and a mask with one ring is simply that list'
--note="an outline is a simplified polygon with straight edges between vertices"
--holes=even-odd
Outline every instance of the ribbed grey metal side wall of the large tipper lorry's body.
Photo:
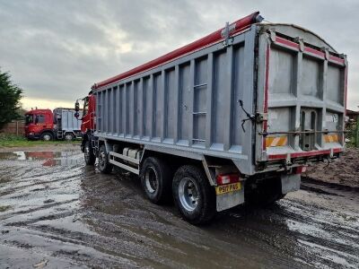
[{"label": "ribbed grey metal side wall of the large tipper lorry's body", "polygon": [[242,131],[245,116],[237,100],[249,110],[254,107],[253,81],[242,80],[246,73],[253,77],[254,39],[255,27],[235,36],[232,46],[218,43],[100,88],[97,134],[248,159],[251,149],[243,152],[242,144],[252,133],[250,124]]}]

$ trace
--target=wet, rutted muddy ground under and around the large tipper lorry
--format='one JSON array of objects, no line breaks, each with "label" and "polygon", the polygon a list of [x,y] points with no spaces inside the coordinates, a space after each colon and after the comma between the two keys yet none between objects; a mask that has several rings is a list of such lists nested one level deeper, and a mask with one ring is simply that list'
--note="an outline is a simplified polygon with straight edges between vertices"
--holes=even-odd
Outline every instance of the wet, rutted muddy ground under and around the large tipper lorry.
[{"label": "wet, rutted muddy ground under and around the large tipper lorry", "polygon": [[81,152],[0,153],[0,268],[358,268],[359,198],[305,180],[274,206],[206,227],[149,203],[136,178]]}]

